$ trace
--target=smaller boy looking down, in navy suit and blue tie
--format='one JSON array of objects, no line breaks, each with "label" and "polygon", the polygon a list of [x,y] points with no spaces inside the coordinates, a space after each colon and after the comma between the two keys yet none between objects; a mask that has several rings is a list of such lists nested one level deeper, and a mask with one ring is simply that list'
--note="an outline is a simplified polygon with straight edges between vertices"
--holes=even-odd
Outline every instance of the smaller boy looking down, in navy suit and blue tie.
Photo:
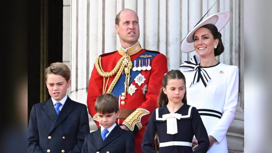
[{"label": "smaller boy looking down, in navy suit and blue tie", "polygon": [[112,93],[97,97],[95,109],[100,128],[86,135],[82,153],[134,153],[134,135],[115,123],[119,117],[117,98]]}]

